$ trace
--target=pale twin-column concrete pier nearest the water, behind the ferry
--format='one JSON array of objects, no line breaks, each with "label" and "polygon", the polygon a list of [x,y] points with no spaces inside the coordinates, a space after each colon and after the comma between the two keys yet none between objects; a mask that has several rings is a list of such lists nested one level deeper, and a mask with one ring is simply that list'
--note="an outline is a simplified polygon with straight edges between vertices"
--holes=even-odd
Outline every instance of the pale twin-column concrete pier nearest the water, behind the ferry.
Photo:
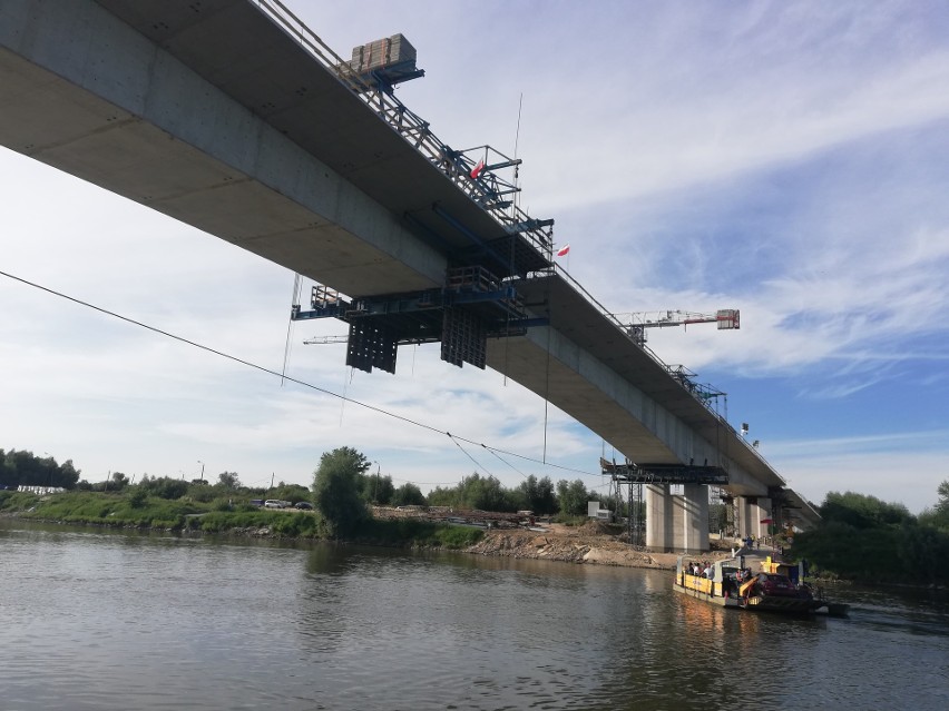
[{"label": "pale twin-column concrete pier nearest the water, behind the ferry", "polygon": [[668,484],[646,485],[646,547],[701,553],[708,550],[708,487],[686,484],[673,495]]}]

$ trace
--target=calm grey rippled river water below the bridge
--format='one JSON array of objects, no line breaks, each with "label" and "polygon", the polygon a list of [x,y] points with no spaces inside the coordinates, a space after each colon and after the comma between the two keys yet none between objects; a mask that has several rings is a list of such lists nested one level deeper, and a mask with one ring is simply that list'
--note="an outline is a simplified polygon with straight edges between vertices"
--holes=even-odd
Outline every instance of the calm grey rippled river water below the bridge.
[{"label": "calm grey rippled river water below the bridge", "polygon": [[949,709],[949,602],[849,619],[665,571],[0,520],[0,709]]}]

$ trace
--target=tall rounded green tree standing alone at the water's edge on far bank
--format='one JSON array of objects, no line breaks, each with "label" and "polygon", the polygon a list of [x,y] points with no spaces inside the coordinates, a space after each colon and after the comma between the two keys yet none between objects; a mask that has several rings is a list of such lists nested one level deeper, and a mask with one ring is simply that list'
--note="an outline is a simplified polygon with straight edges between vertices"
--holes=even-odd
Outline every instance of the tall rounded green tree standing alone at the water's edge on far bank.
[{"label": "tall rounded green tree standing alone at the water's edge on far bank", "polygon": [[360,478],[368,468],[365,456],[351,447],[325,452],[320,457],[313,474],[313,494],[331,535],[348,535],[369,515]]}]

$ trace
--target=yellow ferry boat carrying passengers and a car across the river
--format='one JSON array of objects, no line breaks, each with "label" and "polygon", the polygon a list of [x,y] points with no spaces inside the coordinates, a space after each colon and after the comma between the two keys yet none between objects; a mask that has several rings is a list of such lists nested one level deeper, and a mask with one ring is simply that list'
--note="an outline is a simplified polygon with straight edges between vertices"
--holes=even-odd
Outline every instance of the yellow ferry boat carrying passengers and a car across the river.
[{"label": "yellow ferry boat carrying passengers and a car across the river", "polygon": [[703,567],[694,556],[676,561],[673,590],[721,608],[791,614],[847,614],[847,605],[824,599],[820,589],[803,582],[800,565],[766,557],[752,572],[744,555]]}]

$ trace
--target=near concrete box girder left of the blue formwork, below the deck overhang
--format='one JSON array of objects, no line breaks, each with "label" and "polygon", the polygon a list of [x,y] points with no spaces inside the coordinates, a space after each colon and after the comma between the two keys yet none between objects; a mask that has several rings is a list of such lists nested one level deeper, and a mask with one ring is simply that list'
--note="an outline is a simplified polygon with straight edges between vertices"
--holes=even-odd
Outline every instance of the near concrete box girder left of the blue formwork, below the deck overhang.
[{"label": "near concrete box girder left of the blue formwork, below the deck overhang", "polygon": [[346,294],[443,283],[397,216],[96,2],[2,17],[6,146]]}]

